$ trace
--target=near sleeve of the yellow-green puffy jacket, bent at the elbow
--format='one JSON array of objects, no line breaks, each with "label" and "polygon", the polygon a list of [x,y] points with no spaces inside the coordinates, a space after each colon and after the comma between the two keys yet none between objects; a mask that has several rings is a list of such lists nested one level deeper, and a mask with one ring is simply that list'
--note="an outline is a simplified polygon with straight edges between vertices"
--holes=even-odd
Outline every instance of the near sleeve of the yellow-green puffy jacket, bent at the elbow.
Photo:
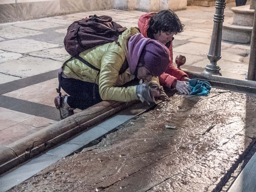
[{"label": "near sleeve of the yellow-green puffy jacket, bent at the elbow", "polygon": [[101,59],[99,75],[99,94],[102,100],[133,101],[138,100],[136,87],[117,87],[118,72],[125,61],[125,55],[120,50],[108,51]]}]

